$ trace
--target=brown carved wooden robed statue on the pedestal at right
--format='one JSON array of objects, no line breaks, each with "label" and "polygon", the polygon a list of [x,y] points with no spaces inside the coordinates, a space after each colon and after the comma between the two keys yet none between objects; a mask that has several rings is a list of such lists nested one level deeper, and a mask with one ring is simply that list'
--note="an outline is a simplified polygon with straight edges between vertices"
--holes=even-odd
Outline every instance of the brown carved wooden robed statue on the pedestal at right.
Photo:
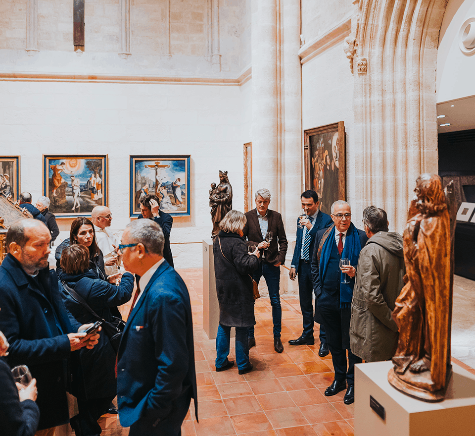
[{"label": "brown carved wooden robed statue on the pedestal at right", "polygon": [[399,343],[388,381],[401,392],[442,401],[452,374],[450,333],[454,274],[453,185],[423,174],[403,233],[407,282],[392,313]]}]

